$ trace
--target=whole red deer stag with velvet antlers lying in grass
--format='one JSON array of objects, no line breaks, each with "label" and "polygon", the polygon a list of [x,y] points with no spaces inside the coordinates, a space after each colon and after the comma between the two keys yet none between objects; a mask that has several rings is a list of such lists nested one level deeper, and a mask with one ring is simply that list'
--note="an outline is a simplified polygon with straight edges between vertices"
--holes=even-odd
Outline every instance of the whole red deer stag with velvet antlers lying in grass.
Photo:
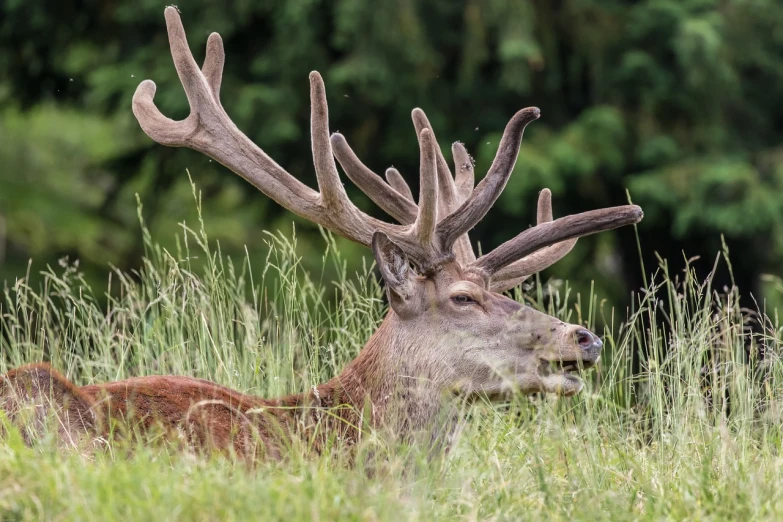
[{"label": "whole red deer stag with velvet antlers lying in grass", "polygon": [[[579,237],[639,223],[642,209],[622,205],[554,219],[552,194],[543,189],[535,226],[478,257],[468,235],[503,191],[523,132],[539,118],[539,109],[514,114],[478,184],[464,145],[456,142],[451,148],[452,173],[426,115],[414,109],[420,155],[420,191],[414,200],[399,171],[389,168],[384,179],[359,160],[343,135],[330,134],[324,82],[312,72],[316,191],[278,165],[227,115],[220,101],[221,37],[209,36],[199,67],[177,8],[167,7],[165,19],[191,112],[182,121],[164,116],[153,101],[155,83],[145,80],[132,101],[142,130],[159,144],[206,154],[285,209],[369,247],[385,285],[388,312],[339,375],[277,399],[185,376],[76,386],[45,363],[11,370],[0,376],[0,412],[17,424],[23,410],[32,412],[23,432],[28,442],[39,433],[45,414],[54,412],[63,444],[82,436],[105,437],[112,423],[130,423],[141,430],[163,427],[190,447],[250,460],[282,458],[296,437],[310,437],[316,452],[338,439],[355,445],[366,429],[400,439],[423,434],[448,445],[459,410],[453,405],[459,401],[497,401],[515,393],[573,396],[582,390],[582,372],[598,362],[601,339],[504,292],[564,257]],[[371,217],[349,200],[338,163],[396,223]]]}]

